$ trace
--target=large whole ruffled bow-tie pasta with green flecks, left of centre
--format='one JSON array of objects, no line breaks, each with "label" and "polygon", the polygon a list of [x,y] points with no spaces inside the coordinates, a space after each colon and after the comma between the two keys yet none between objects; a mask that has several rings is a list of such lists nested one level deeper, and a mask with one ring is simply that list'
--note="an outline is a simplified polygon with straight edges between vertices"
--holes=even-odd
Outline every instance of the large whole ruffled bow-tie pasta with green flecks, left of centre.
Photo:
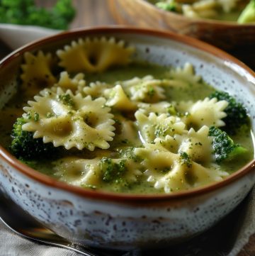
[{"label": "large whole ruffled bow-tie pasta with green flecks, left of centre", "polygon": [[[57,91],[44,89],[35,101],[28,101],[23,108],[26,113],[37,113],[38,120],[27,119],[23,130],[34,132],[34,138],[42,138],[44,143],[53,143],[55,147],[109,148],[108,141],[113,140],[113,115],[105,106],[106,99],[85,98],[81,94],[74,95],[71,90]],[[24,115],[27,118],[28,115]]]}]

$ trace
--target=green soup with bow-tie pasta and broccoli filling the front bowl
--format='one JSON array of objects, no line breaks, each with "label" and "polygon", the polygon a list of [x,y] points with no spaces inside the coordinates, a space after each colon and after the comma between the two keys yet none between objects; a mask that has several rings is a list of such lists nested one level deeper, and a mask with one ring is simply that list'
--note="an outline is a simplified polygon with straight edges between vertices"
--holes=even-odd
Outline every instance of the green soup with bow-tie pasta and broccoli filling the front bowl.
[{"label": "green soup with bow-tie pasta and broccoli filling the front bowl", "polygon": [[241,103],[190,63],[160,67],[132,60],[134,52],[115,38],[26,52],[22,115],[15,104],[1,110],[17,118],[11,142],[9,130],[1,134],[6,148],[72,186],[142,194],[219,182],[251,160]]}]

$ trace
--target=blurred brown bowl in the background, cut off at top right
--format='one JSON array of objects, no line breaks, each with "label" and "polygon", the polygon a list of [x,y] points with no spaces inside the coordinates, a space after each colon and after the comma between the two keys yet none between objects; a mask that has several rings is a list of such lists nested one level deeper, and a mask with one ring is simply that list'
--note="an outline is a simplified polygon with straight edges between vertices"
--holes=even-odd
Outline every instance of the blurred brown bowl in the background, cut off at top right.
[{"label": "blurred brown bowl in the background, cut off at top right", "polygon": [[199,38],[225,50],[254,48],[255,23],[239,25],[234,21],[187,18],[159,9],[145,0],[108,0],[108,5],[120,24],[170,30]]}]

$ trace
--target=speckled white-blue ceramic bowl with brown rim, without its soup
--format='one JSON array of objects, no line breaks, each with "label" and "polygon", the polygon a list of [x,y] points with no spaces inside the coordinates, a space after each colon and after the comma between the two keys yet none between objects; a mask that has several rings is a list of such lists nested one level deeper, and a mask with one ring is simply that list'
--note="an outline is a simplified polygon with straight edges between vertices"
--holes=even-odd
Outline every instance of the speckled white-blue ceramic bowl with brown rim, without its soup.
[{"label": "speckled white-blue ceramic bowl with brown rim, without its soup", "polygon": [[[137,28],[76,30],[16,50],[0,63],[1,106],[14,92],[24,52],[56,50],[71,40],[101,35],[135,45],[138,60],[159,65],[193,63],[206,82],[244,102],[255,130],[255,77],[251,69],[198,40]],[[74,243],[121,249],[159,247],[191,238],[232,211],[254,185],[254,165],[253,160],[224,181],[192,191],[111,194],[57,182],[0,148],[0,189],[40,223]]]}]

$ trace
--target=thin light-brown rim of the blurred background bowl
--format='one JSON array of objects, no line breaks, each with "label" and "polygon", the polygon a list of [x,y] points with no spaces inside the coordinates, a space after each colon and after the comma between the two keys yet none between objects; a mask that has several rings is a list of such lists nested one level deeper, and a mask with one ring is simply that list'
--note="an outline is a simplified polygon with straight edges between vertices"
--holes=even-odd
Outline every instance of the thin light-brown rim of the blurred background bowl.
[{"label": "thin light-brown rim of the blurred background bowl", "polygon": [[181,17],[183,19],[186,19],[186,21],[193,21],[194,23],[207,23],[207,24],[215,24],[215,25],[221,25],[221,26],[232,26],[232,27],[239,27],[243,26],[245,28],[255,28],[255,23],[243,23],[239,24],[237,21],[220,21],[212,18],[188,18],[186,16],[183,16],[181,13],[175,13],[174,11],[166,11],[163,9],[158,8],[154,4],[150,3],[147,0],[137,0],[140,1],[141,4],[145,4],[149,6],[149,8],[156,9],[159,12],[162,13],[168,13],[169,15]]}]

